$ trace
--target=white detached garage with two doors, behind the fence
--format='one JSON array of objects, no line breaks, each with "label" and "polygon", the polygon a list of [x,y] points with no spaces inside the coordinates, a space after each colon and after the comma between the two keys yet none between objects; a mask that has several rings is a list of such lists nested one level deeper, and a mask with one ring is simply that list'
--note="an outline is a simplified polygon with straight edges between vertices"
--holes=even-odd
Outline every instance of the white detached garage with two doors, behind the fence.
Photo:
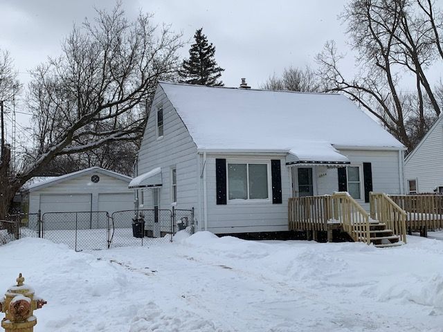
[{"label": "white detached garage with two doors, behind the fence", "polygon": [[87,219],[89,212],[91,227],[101,227],[94,225],[90,212],[112,214],[134,209],[134,193],[128,190],[131,180],[123,174],[91,167],[34,183],[26,188],[29,213],[38,213],[39,210],[42,215],[47,212],[84,212]]}]

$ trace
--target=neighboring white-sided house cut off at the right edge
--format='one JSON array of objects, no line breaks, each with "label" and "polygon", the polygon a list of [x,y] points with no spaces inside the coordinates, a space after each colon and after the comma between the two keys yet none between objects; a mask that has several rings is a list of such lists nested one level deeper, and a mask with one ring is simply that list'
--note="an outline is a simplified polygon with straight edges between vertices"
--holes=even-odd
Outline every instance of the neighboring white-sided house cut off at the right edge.
[{"label": "neighboring white-sided house cut off at the right edge", "polygon": [[406,192],[443,193],[443,118],[435,121],[431,129],[406,157],[404,178]]}]

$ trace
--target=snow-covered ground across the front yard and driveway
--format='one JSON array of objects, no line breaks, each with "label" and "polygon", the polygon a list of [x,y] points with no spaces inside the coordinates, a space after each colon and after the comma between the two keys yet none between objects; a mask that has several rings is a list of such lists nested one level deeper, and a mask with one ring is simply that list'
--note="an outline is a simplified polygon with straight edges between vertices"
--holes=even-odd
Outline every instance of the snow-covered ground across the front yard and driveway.
[{"label": "snow-covered ground across the front yard and driveway", "polygon": [[443,241],[408,242],[179,232],[173,243],[74,252],[26,238],[0,246],[0,292],[24,274],[48,301],[36,332],[443,331]]}]

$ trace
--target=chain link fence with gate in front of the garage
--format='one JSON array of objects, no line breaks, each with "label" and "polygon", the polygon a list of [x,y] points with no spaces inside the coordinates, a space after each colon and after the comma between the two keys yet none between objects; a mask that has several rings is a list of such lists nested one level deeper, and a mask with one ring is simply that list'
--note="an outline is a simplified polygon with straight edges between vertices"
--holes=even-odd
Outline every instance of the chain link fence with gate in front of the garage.
[{"label": "chain link fence with gate in front of the garage", "polygon": [[172,242],[179,230],[195,232],[190,210],[125,210],[12,214],[0,220],[0,244],[21,237],[42,237],[75,251]]}]

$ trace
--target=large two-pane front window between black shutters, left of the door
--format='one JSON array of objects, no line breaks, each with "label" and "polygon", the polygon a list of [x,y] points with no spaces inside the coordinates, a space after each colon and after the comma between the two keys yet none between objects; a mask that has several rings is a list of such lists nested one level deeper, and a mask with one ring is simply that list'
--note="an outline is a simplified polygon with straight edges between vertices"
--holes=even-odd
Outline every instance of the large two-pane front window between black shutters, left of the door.
[{"label": "large two-pane front window between black shutters, left of the door", "polygon": [[228,163],[228,199],[269,199],[266,163]]}]

